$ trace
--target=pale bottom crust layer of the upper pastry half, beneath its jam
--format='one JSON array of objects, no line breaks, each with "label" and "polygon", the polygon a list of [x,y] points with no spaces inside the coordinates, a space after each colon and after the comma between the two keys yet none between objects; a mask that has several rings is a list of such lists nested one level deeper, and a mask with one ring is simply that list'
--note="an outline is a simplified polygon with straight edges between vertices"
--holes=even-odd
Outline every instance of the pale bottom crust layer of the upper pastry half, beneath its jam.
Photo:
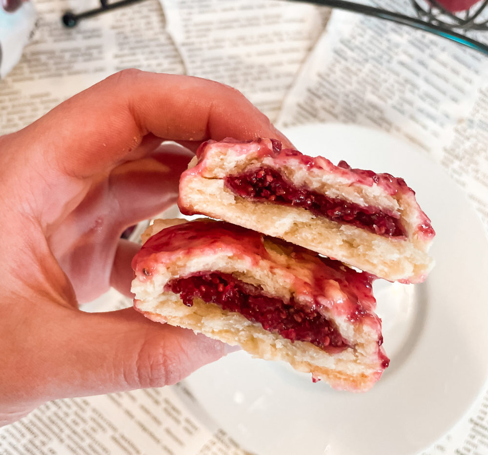
[{"label": "pale bottom crust layer of the upper pastry half, beneath its jam", "polygon": [[[428,245],[422,240],[389,239],[355,226],[316,217],[300,207],[253,202],[226,189],[220,178],[188,175],[182,182],[178,205],[185,215],[200,214],[229,220],[388,281],[419,283],[434,266],[426,252]],[[312,235],[307,236],[307,231]]]}]

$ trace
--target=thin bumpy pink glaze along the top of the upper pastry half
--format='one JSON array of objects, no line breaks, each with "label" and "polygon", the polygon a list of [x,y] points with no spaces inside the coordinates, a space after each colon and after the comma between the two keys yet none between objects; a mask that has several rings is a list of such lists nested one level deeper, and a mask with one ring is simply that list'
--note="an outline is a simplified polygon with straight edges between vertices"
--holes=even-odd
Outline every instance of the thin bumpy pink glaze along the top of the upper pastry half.
[{"label": "thin bumpy pink glaze along the top of the upper pastry half", "polygon": [[[232,138],[226,138],[221,142],[208,140],[203,142],[197,150],[198,163],[195,167],[188,169],[180,179],[180,185],[184,185],[185,178],[191,175],[203,175],[207,172],[205,158],[207,154],[211,154],[214,147],[222,148],[226,146],[233,154],[247,155],[252,154],[256,159],[262,160],[264,158],[272,158],[273,166],[280,168],[283,164],[288,164],[293,167],[296,165],[305,166],[309,169],[316,169],[324,171],[325,173],[335,174],[338,178],[342,178],[349,185],[377,185],[382,188],[390,196],[403,196],[411,199],[414,207],[417,207],[417,235],[428,240],[435,236],[435,232],[430,224],[430,219],[420,209],[416,200],[415,192],[407,186],[403,178],[393,177],[387,173],[377,174],[373,171],[363,169],[353,169],[346,161],[340,161],[337,166],[332,164],[323,157],[309,157],[293,149],[283,149],[282,144],[277,139],[256,139],[249,141],[237,141]],[[184,204],[180,201],[180,209],[183,213],[188,213]],[[381,208],[380,208],[381,209]]]}]

